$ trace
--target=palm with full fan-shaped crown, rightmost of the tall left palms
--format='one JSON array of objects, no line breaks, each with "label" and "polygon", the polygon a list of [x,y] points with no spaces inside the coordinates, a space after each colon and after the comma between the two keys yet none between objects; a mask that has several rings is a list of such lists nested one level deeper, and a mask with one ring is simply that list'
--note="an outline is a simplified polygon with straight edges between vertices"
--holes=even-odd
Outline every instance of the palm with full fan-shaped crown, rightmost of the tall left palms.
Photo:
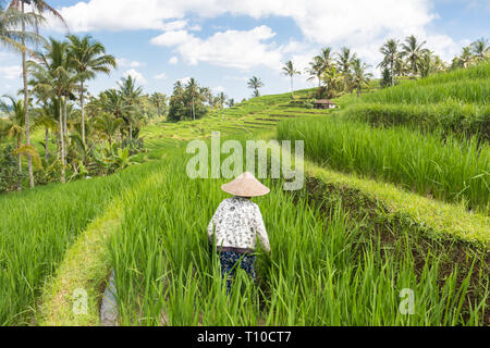
[{"label": "palm with full fan-shaped crown, rightmost of the tall left palms", "polygon": [[115,58],[106,54],[106,48],[98,41],[93,40],[90,36],[79,38],[75,35],[70,35],[70,55],[75,71],[79,78],[79,105],[82,110],[82,141],[85,145],[85,105],[84,105],[84,83],[94,79],[97,73],[109,74],[112,69],[115,69]]}]

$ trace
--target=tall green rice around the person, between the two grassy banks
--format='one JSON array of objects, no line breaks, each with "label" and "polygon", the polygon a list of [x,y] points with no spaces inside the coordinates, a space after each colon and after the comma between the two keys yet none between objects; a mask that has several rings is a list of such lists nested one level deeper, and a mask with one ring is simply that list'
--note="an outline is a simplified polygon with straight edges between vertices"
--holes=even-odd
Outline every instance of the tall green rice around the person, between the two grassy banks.
[{"label": "tall green rice around the person, between the two grassy banks", "polygon": [[[441,281],[436,257],[416,270],[409,248],[399,244],[390,252],[379,239],[359,241],[363,224],[353,224],[346,211],[336,208],[324,215],[272,181],[266,181],[271,194],[256,199],[272,258],[258,252],[258,287],[238,271],[228,298],[206,235],[209,219],[226,197],[220,190],[222,182],[189,179],[185,157],[173,157],[158,178],[133,197],[109,246],[121,324],[482,323],[488,289],[481,289],[469,308],[460,306],[468,290],[467,281],[458,283],[456,276],[465,278],[466,273],[453,270]],[[412,315],[399,311],[403,288],[414,290]]]}]

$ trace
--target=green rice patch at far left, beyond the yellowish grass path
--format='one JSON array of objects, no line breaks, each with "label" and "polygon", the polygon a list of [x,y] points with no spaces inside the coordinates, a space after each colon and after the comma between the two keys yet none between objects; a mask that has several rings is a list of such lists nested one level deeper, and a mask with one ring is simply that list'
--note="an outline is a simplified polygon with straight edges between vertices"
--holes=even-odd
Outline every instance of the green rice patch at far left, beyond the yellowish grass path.
[{"label": "green rice patch at far left, beyond the yellowish grass path", "polygon": [[44,282],[91,220],[154,165],[0,196],[0,325],[35,323]]}]

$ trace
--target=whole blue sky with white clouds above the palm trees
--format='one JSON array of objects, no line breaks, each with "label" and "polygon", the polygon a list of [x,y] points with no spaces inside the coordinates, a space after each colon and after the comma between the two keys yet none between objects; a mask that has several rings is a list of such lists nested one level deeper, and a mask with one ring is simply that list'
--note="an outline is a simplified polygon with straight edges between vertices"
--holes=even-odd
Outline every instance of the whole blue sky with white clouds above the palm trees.
[{"label": "whole blue sky with white clouds above the palm trees", "polygon": [[[177,79],[195,77],[240,101],[246,79],[262,94],[289,90],[281,64],[299,70],[321,47],[351,47],[376,66],[387,38],[415,34],[445,60],[490,37],[490,0],[51,0],[72,34],[89,34],[118,58],[119,69],[89,84],[93,94],[136,77],[146,92],[170,95]],[[62,38],[57,21],[42,32]],[[378,71],[373,69],[378,74]],[[20,57],[0,48],[0,94],[20,88]],[[295,88],[315,86],[305,75]]]}]

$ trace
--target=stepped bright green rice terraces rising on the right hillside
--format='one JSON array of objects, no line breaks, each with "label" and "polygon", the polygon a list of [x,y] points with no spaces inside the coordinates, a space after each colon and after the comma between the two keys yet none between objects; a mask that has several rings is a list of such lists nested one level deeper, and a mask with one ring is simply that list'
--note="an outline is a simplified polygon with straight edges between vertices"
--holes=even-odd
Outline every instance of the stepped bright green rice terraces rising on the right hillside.
[{"label": "stepped bright green rice terraces rising on the right hillside", "polygon": [[[319,163],[490,209],[490,63],[339,99],[335,117],[283,123]],[[368,124],[379,127],[372,128]],[[415,129],[414,129],[415,128]]]}]

